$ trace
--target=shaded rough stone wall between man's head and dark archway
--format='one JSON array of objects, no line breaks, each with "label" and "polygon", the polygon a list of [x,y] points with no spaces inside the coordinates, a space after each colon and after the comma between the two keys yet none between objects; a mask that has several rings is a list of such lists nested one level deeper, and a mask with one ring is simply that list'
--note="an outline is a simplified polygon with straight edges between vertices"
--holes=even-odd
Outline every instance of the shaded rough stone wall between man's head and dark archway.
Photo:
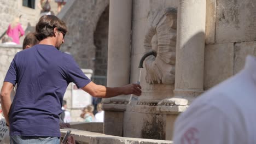
[{"label": "shaded rough stone wall between man's head and dark archway", "polygon": [[[106,0],[77,0],[73,3],[72,7],[69,8],[68,13],[62,19],[66,22],[69,31],[65,37],[65,44],[61,47],[61,50],[71,53],[81,68],[95,70],[97,47],[94,40],[94,34],[97,25],[102,25],[102,23],[98,22],[103,12],[108,8],[108,5],[109,1]],[[107,19],[103,20],[103,22],[106,21]],[[106,27],[107,25],[103,32],[106,31]],[[101,45],[106,46],[107,34],[104,39],[104,41],[101,41]]]}]

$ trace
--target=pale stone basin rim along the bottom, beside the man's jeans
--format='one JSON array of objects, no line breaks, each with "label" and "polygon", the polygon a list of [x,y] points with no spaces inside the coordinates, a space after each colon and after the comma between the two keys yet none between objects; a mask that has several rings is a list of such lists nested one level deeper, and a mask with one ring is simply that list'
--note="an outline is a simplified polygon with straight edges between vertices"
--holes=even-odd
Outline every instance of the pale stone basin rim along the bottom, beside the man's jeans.
[{"label": "pale stone basin rim along the bottom, beside the man's jeans", "polygon": [[113,135],[105,135],[100,133],[92,133],[89,131],[77,129],[60,129],[61,137],[65,136],[67,130],[71,130],[71,135],[74,136],[75,141],[88,144],[173,144],[172,141],[164,140],[150,140],[150,139],[137,139],[131,137],[120,137]]}]

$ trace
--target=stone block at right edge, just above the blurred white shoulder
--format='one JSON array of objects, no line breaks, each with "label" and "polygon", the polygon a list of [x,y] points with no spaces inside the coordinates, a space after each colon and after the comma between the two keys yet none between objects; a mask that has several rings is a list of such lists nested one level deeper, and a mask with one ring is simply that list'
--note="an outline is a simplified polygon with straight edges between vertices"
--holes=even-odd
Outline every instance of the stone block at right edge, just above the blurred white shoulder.
[{"label": "stone block at right edge, just above the blurred white shoulder", "polygon": [[234,74],[245,66],[246,56],[256,56],[256,41],[236,43],[234,46]]}]

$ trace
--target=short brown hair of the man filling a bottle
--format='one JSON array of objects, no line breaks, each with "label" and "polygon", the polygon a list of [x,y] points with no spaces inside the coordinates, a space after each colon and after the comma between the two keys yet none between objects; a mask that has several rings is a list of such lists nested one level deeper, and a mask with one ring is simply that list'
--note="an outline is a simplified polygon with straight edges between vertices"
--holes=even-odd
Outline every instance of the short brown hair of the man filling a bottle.
[{"label": "short brown hair of the man filling a bottle", "polygon": [[40,17],[36,25],[36,37],[39,41],[54,36],[54,28],[62,33],[67,33],[66,23],[54,15],[44,15]]}]

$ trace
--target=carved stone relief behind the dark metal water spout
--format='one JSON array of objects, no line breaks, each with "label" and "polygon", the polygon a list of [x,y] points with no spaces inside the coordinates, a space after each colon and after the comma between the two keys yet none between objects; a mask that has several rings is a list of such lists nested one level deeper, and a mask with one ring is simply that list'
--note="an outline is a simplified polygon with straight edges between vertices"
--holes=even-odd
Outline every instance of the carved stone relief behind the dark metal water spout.
[{"label": "carved stone relief behind the dark metal water spout", "polygon": [[[150,17],[148,17],[150,19]],[[149,84],[173,85],[175,80],[177,13],[173,8],[158,11],[153,16],[144,39],[146,52],[157,56],[145,59],[146,81]]]}]

